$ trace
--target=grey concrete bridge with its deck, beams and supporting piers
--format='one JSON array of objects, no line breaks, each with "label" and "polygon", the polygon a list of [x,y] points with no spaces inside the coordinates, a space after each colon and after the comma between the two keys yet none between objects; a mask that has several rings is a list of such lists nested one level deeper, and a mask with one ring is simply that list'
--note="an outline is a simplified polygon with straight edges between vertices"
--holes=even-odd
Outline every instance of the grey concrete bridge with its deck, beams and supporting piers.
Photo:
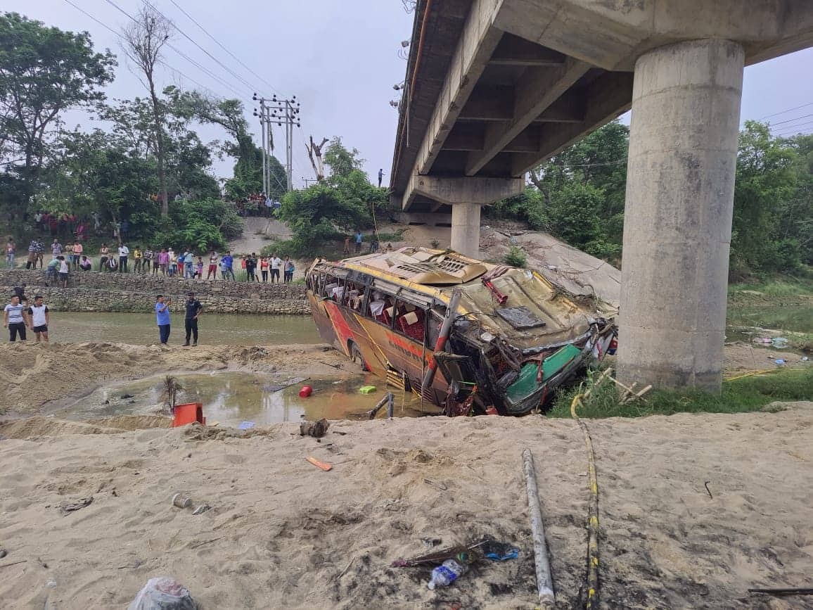
[{"label": "grey concrete bridge with its deck, beams and supporting piers", "polygon": [[720,390],[743,68],[808,46],[811,0],[420,0],[392,196],[477,255],[482,205],[632,108],[619,375]]}]

